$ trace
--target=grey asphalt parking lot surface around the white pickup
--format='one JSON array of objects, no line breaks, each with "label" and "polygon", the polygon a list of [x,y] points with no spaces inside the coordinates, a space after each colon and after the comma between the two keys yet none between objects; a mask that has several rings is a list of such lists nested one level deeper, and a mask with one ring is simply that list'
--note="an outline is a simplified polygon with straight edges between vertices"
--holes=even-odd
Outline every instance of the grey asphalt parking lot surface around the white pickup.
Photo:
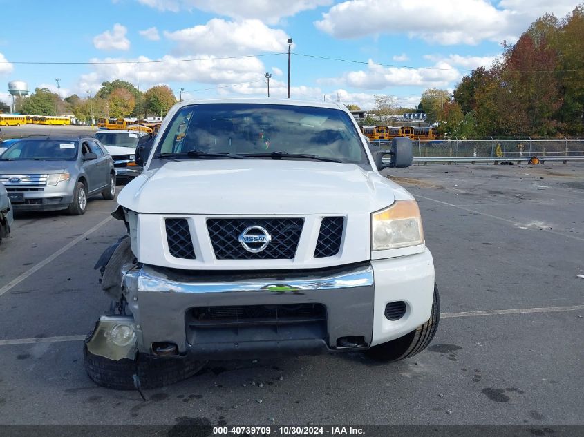
[{"label": "grey asphalt parking lot surface around the white pickup", "polygon": [[93,264],[124,233],[98,196],[80,217],[19,215],[0,245],[0,424],[582,425],[584,165],[386,173],[420,202],[434,255],[426,351],[210,362],[146,401],[97,387],[82,357],[107,304]]}]

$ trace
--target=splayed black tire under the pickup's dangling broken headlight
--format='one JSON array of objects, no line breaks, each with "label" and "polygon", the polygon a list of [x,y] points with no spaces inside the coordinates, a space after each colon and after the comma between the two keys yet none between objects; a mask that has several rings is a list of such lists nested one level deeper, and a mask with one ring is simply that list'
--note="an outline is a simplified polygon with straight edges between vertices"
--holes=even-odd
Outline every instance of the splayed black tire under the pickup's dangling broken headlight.
[{"label": "splayed black tire under the pickup's dangling broken headlight", "polygon": [[[86,342],[91,338],[90,333]],[[158,389],[175,384],[200,371],[207,362],[189,356],[180,358],[160,358],[138,353],[135,360],[124,358],[113,361],[93,355],[83,345],[85,371],[95,384],[116,390],[135,390],[133,376],[140,377],[142,389]]]}]

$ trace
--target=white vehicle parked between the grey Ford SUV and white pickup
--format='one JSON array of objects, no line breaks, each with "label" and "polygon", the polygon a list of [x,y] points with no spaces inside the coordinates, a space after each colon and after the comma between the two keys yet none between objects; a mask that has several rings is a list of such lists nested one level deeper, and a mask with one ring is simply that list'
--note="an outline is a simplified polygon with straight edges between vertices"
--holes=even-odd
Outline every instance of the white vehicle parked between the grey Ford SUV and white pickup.
[{"label": "white vehicle parked between the grey Ford SUV and white pickup", "polygon": [[112,156],[118,181],[127,181],[142,173],[142,167],[134,160],[135,150],[140,139],[145,141],[151,135],[135,130],[100,130],[94,137],[100,140]]}]

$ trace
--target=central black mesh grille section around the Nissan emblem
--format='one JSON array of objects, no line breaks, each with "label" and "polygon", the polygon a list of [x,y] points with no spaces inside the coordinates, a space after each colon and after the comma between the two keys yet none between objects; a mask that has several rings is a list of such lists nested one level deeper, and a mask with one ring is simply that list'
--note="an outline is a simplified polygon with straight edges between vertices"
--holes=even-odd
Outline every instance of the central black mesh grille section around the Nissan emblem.
[{"label": "central black mesh grille section around the Nissan emblem", "polygon": [[[208,219],[207,229],[218,260],[291,260],[296,255],[303,224],[302,218]],[[272,237],[263,251],[249,252],[239,242],[239,236],[249,226],[261,226]]]}]

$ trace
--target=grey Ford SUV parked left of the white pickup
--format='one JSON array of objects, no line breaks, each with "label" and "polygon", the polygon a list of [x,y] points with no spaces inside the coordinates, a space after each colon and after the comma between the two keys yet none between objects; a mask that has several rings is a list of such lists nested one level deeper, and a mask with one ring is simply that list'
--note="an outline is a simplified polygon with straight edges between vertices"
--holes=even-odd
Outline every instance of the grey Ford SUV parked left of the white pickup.
[{"label": "grey Ford SUV parked left of the white pickup", "polygon": [[0,157],[0,182],[15,211],[82,215],[91,195],[115,196],[113,161],[92,137],[20,139]]}]

